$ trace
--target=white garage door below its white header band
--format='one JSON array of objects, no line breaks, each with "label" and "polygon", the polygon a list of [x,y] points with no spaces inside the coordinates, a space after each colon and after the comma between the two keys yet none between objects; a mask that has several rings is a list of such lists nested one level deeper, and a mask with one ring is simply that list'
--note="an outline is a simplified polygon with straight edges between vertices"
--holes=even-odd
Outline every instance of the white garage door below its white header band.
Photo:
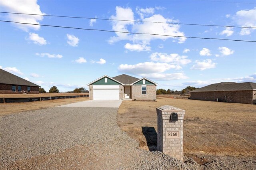
[{"label": "white garage door below its white header band", "polygon": [[119,89],[93,89],[94,100],[119,100]]}]

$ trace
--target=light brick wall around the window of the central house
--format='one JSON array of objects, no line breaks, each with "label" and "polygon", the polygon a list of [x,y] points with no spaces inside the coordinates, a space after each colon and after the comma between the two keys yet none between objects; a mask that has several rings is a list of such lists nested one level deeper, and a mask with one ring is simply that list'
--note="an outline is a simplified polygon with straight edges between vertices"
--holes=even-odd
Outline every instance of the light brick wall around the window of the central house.
[{"label": "light brick wall around the window of the central house", "polygon": [[132,86],[132,100],[137,101],[154,101],[156,100],[156,86],[147,85],[146,86],[146,95],[142,95],[142,86],[133,85]]}]

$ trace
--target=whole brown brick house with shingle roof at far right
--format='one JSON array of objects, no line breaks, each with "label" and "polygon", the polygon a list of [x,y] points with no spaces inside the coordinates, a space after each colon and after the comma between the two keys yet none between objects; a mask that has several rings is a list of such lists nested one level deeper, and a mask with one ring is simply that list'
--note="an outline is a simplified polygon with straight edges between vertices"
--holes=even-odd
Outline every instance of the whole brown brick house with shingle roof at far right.
[{"label": "whole brown brick house with shingle roof at far right", "polygon": [[256,83],[222,82],[190,91],[190,99],[256,104]]}]

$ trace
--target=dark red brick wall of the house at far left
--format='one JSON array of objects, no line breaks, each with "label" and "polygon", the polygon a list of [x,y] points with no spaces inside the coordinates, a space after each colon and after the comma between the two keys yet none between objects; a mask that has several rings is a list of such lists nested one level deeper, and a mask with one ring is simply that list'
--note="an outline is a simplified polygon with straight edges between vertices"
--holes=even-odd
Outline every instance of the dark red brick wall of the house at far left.
[{"label": "dark red brick wall of the house at far left", "polygon": [[[0,83],[0,94],[23,94],[23,91],[25,90],[28,94],[39,94],[39,87],[36,86],[26,86],[21,85],[21,91],[18,91],[18,86],[16,86],[16,91],[12,91],[12,85],[11,84],[1,84]],[[30,92],[28,92],[28,87],[30,87]]]}]

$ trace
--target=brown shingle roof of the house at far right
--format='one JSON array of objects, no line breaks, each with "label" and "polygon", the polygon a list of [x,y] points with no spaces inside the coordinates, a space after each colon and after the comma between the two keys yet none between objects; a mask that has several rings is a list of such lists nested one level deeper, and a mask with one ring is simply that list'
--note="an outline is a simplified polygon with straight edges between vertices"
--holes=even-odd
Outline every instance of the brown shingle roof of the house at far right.
[{"label": "brown shingle roof of the house at far right", "polygon": [[222,82],[211,84],[193,91],[193,92],[203,92],[203,91],[238,91],[238,90],[255,90],[256,83],[246,82],[246,83],[235,83],[235,82]]}]

